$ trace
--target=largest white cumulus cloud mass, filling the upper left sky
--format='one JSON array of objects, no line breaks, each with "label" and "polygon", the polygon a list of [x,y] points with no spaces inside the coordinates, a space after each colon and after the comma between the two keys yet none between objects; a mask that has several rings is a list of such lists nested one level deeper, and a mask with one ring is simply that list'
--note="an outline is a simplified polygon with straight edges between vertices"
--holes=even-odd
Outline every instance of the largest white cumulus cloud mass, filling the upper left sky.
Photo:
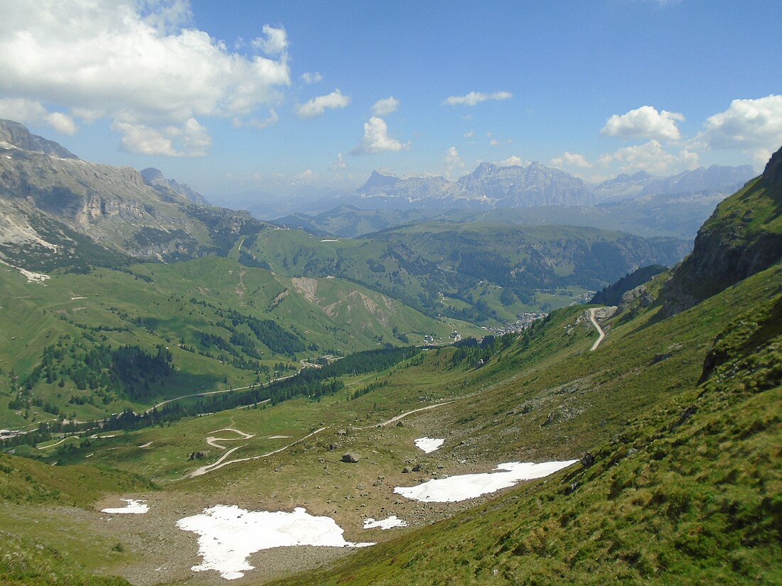
[{"label": "largest white cumulus cloud mass, filling the upper left sky", "polygon": [[[0,20],[0,95],[36,103],[59,129],[107,118],[125,148],[203,155],[199,117],[252,115],[290,84],[287,35],[268,25],[253,54],[228,51],[182,0],[10,2]],[[193,132],[195,123],[200,129]],[[27,120],[20,120],[31,122]],[[127,134],[126,134],[127,133]]]}]

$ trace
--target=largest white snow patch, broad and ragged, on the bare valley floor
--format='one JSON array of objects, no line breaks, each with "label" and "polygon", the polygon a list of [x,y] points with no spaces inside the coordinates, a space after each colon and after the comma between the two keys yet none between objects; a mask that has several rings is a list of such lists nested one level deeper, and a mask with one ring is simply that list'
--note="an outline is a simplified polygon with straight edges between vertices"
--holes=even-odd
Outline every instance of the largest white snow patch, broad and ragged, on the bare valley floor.
[{"label": "largest white snow patch, broad and ragged, on the bare valley floor", "polygon": [[226,580],[244,576],[253,570],[247,562],[251,553],[261,549],[291,545],[327,547],[365,547],[372,543],[345,541],[343,529],[328,516],[312,516],[296,507],[285,511],[246,511],[235,505],[217,505],[200,515],[177,522],[183,531],[199,534],[199,556],[203,562],[192,566],[195,572],[216,570]]}]

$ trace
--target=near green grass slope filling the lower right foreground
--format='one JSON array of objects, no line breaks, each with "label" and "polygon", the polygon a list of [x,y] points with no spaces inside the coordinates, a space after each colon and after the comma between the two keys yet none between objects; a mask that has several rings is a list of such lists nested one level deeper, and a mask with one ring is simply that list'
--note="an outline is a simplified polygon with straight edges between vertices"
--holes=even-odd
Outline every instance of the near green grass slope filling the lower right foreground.
[{"label": "near green grass slope filling the lower right foreground", "polygon": [[710,299],[766,294],[723,321],[705,381],[637,411],[594,463],[277,584],[779,583],[779,282],[777,266]]}]

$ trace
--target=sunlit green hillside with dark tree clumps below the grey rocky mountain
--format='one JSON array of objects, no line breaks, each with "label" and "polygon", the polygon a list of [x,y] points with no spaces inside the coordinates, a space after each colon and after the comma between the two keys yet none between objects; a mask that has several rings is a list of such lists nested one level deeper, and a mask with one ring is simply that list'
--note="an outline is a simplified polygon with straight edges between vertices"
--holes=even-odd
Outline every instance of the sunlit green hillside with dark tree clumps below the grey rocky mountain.
[{"label": "sunlit green hillside with dark tree clumps below the grey rocky mountain", "polygon": [[[179,395],[264,383],[302,360],[447,341],[454,327],[479,332],[344,280],[278,277],[213,256],[54,273],[44,283],[6,267],[0,289],[2,427],[140,413]],[[161,356],[168,362],[154,366]]]}]

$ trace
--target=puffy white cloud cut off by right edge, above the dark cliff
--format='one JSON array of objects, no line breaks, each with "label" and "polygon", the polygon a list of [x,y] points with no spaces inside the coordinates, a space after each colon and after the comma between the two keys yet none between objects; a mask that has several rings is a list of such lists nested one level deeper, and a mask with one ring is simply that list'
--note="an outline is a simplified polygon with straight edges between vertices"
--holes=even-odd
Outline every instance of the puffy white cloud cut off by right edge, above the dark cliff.
[{"label": "puffy white cloud cut off by right edge, above the dark cliff", "polygon": [[782,95],[730,102],[730,108],[708,117],[694,143],[705,148],[776,150],[782,144]]}]

